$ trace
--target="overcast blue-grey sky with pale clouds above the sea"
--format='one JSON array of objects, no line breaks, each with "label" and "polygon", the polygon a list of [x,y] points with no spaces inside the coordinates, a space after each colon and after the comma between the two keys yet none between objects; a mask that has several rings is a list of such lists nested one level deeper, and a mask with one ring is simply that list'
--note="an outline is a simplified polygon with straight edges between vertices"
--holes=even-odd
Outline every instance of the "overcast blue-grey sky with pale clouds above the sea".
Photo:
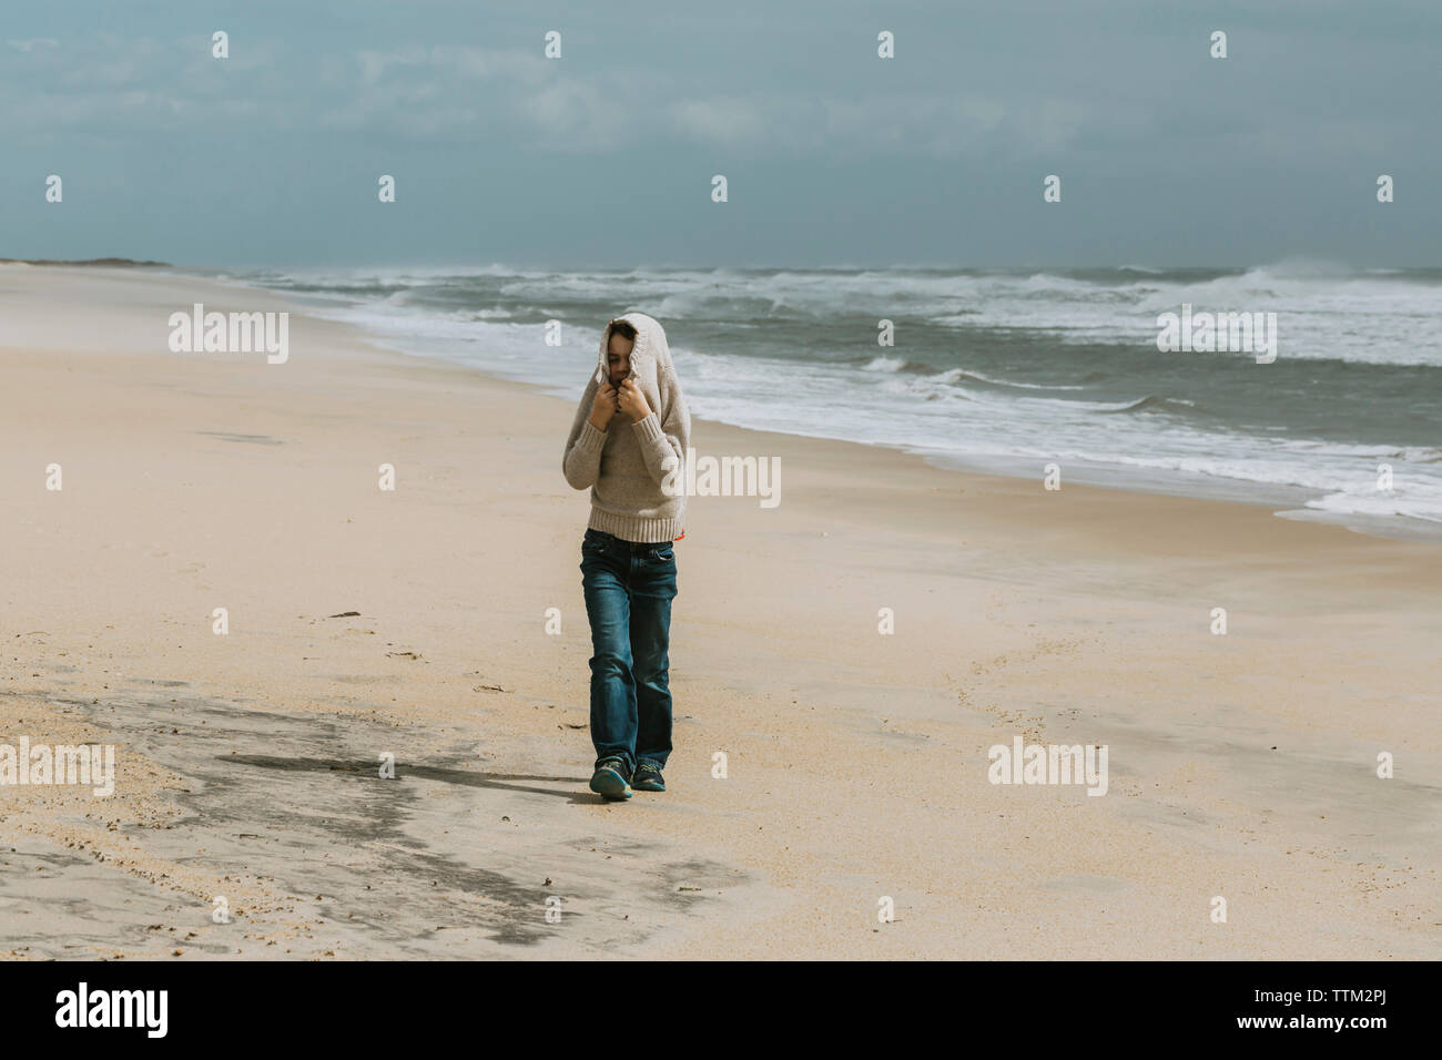
[{"label": "overcast blue-grey sky with pale clouds above the sea", "polygon": [[1438,265],[1439,45],[1436,0],[9,3],[0,257]]}]

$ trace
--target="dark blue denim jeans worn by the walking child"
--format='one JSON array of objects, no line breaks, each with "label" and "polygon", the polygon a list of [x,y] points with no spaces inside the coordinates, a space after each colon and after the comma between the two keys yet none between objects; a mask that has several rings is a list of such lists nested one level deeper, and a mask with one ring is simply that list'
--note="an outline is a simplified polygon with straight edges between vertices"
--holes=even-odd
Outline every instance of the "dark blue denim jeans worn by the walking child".
[{"label": "dark blue denim jeans worn by the walking child", "polygon": [[676,557],[669,541],[636,544],[598,529],[581,539],[581,591],[591,620],[591,743],[596,760],[634,770],[671,754],[671,601]]}]

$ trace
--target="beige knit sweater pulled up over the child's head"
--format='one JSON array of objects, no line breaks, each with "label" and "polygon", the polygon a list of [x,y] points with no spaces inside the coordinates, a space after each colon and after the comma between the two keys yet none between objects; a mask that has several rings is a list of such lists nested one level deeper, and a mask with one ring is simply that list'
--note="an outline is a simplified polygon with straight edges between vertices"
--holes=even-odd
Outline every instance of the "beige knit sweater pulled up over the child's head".
[{"label": "beige knit sweater pulled up over the child's head", "polygon": [[[678,469],[685,467],[682,461],[691,446],[691,411],[676,381],[666,332],[645,313],[626,313],[620,319],[636,329],[629,378],[640,388],[650,414],[633,421],[617,411],[604,431],[591,424],[596,391],[609,376],[611,326],[606,324],[600,363],[575,410],[561,470],[574,489],[591,490],[587,526],[622,541],[675,541],[685,531],[686,496],[681,487],[685,477]],[[663,482],[676,485],[662,490]]]}]

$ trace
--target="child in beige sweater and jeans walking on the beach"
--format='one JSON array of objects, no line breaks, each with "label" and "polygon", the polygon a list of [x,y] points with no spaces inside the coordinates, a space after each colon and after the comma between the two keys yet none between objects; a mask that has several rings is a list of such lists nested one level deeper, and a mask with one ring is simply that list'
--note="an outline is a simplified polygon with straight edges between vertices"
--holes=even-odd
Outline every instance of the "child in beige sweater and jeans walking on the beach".
[{"label": "child in beige sweater and jeans walking on the beach", "polygon": [[[591,490],[581,590],[591,622],[591,790],[606,799],[663,792],[671,754],[672,541],[685,536],[684,469],[691,412],[666,333],[645,313],[601,332],[600,365],[581,395],[561,467]],[[675,482],[685,482],[673,474]]]}]

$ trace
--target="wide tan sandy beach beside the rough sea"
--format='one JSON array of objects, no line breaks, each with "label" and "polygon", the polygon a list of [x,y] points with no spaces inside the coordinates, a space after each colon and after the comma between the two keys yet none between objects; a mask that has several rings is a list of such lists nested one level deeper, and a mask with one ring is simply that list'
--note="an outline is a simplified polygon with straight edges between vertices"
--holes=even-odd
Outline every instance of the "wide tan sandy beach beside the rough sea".
[{"label": "wide tan sandy beach beside the rough sea", "polygon": [[[172,353],[196,301],[288,359]],[[696,420],[782,502],[689,502],[609,805],[571,402],[144,270],[0,267],[0,744],[117,767],[0,786],[0,956],[1442,956],[1439,545]]]}]

